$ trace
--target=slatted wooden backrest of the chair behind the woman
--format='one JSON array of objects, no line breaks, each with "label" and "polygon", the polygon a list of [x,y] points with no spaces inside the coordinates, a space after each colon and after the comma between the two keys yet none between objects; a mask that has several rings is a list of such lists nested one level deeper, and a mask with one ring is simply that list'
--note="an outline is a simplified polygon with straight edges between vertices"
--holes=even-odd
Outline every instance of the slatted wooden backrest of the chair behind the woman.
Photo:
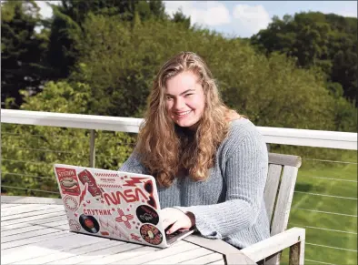
[{"label": "slatted wooden backrest of the chair behind the woman", "polygon": [[[293,190],[301,158],[269,153],[269,168],[264,189],[264,202],[270,220],[271,236],[287,229]],[[278,264],[281,255],[275,255],[264,264]]]}]

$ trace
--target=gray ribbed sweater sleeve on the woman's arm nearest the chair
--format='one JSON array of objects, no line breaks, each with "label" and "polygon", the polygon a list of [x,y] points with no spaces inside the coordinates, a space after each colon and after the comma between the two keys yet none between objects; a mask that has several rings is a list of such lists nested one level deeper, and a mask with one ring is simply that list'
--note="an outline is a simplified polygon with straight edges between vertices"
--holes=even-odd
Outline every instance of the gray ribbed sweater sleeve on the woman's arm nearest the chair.
[{"label": "gray ribbed sweater sleeve on the woman's arm nearest the chair", "polygon": [[[233,146],[233,145],[232,145]],[[225,201],[213,205],[175,207],[195,216],[196,229],[207,238],[224,237],[254,225],[262,207],[268,170],[264,139],[252,132],[227,153]]]}]

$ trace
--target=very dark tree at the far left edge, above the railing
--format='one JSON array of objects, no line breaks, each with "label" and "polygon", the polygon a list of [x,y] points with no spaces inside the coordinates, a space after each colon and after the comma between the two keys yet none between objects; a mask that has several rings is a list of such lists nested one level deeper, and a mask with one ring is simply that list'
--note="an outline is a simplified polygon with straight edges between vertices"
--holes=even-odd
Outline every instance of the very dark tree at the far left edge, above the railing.
[{"label": "very dark tree at the far left edge, above the railing", "polygon": [[[41,90],[48,72],[45,52],[48,36],[35,32],[42,25],[35,1],[1,3],[1,97],[8,107],[19,107],[23,98],[20,89],[31,94]],[[11,102],[11,104],[10,104]]]}]

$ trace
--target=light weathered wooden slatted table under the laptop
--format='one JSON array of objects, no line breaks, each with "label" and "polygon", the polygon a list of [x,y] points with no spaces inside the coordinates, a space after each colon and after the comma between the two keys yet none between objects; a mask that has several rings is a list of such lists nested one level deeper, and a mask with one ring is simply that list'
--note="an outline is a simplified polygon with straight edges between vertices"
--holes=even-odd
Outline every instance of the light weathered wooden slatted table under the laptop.
[{"label": "light weathered wooden slatted table under the laptop", "polygon": [[68,230],[61,199],[1,197],[1,264],[255,264],[222,240],[189,236],[167,249]]}]

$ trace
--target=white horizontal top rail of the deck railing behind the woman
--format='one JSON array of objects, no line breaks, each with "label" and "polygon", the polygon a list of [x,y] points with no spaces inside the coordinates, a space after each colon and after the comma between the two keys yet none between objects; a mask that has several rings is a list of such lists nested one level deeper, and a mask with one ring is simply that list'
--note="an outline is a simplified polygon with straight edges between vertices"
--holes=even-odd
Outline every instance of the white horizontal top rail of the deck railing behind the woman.
[{"label": "white horizontal top rail of the deck railing behind the woman", "polygon": [[[51,127],[75,127],[137,133],[144,121],[135,117],[105,117],[42,111],[1,109],[1,122]],[[357,133],[258,127],[268,144],[357,150]]]}]

